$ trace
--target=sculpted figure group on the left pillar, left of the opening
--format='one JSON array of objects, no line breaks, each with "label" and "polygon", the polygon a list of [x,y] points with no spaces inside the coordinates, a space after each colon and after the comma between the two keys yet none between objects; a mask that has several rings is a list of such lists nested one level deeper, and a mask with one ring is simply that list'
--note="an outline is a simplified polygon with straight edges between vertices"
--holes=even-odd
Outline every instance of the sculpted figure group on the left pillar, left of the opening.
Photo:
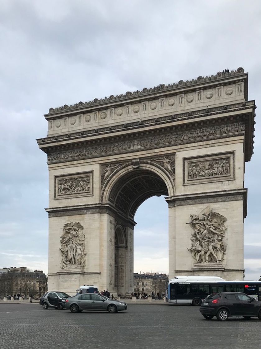
[{"label": "sculpted figure group on the left pillar, left of the opening", "polygon": [[79,222],[66,223],[61,235],[61,269],[68,266],[80,266],[86,265],[86,252],[85,252],[85,235],[83,233],[83,226]]}]

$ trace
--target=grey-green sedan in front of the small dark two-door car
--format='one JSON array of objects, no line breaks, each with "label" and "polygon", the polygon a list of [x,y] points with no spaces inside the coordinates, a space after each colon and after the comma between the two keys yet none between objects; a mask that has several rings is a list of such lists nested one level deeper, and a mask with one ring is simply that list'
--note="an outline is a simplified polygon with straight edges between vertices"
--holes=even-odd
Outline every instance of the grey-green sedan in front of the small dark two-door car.
[{"label": "grey-green sedan in front of the small dark two-door car", "polygon": [[70,309],[72,313],[82,312],[83,310],[98,310],[116,313],[126,310],[127,304],[119,300],[109,299],[97,293],[84,293],[72,296],[65,300],[65,309]]}]

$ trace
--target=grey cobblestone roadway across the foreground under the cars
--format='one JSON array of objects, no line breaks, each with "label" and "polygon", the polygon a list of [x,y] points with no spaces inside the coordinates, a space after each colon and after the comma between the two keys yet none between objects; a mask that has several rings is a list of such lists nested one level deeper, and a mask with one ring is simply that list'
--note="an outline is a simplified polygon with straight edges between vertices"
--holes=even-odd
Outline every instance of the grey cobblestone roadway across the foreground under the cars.
[{"label": "grey cobblestone roadway across the foreground under the cars", "polygon": [[261,321],[205,320],[198,307],[128,305],[126,312],[43,310],[39,304],[0,304],[5,349],[249,349],[261,347]]}]

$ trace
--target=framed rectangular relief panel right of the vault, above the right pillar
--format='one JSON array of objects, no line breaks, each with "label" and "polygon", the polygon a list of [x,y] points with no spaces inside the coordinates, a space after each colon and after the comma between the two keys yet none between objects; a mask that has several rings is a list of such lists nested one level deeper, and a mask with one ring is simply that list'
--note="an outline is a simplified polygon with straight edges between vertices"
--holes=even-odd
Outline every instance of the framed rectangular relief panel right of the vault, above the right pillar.
[{"label": "framed rectangular relief panel right of the vault, above the right pillar", "polygon": [[235,179],[235,151],[183,158],[183,185]]}]

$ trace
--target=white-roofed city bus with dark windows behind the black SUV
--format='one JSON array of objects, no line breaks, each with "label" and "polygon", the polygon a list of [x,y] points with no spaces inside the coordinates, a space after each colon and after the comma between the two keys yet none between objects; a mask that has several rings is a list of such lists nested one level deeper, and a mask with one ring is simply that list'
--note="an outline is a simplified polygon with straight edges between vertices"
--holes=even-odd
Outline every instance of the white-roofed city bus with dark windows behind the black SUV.
[{"label": "white-roofed city bus with dark windows behind the black SUV", "polygon": [[175,276],[166,282],[166,302],[200,305],[218,292],[244,292],[261,300],[261,281],[227,281],[217,276]]}]

